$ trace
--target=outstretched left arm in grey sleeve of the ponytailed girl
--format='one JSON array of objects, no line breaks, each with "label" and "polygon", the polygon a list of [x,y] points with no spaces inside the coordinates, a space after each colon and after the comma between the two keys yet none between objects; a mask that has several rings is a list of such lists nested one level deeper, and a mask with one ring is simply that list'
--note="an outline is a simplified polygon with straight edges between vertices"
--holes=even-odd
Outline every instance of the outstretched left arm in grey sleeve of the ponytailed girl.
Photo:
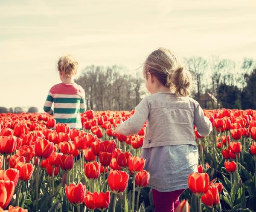
[{"label": "outstretched left arm in grey sleeve of the ponytailed girl", "polygon": [[117,134],[134,135],[140,131],[148,119],[150,107],[147,98],[143,99],[135,108],[135,113],[115,130]]}]

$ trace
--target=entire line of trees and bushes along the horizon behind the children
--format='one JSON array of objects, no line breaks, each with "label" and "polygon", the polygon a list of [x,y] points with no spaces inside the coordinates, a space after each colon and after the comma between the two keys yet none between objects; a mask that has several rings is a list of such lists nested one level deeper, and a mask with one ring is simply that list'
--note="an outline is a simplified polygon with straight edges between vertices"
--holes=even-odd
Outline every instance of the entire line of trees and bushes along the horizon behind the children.
[{"label": "entire line of trees and bushes along the horizon behind the children", "polygon": [[[244,58],[241,63],[217,56],[184,58],[192,72],[195,86],[191,97],[205,109],[256,109],[256,61]],[[131,72],[130,72],[131,73]],[[85,91],[87,109],[132,110],[147,93],[142,73],[129,74],[124,66],[87,66],[76,83]],[[216,104],[203,105],[205,95]],[[36,107],[0,107],[1,112],[38,112]]]}]

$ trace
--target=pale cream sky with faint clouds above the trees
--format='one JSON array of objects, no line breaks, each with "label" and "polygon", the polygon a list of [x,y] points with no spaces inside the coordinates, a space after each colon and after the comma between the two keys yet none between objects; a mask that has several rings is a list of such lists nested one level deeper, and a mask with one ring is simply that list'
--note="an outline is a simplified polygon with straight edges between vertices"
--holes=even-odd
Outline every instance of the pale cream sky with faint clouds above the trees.
[{"label": "pale cream sky with faint clouds above the trees", "polygon": [[[181,57],[256,58],[254,0],[0,0],[0,106],[37,106],[56,63],[135,72],[160,46]],[[78,75],[79,75],[78,73]]]}]

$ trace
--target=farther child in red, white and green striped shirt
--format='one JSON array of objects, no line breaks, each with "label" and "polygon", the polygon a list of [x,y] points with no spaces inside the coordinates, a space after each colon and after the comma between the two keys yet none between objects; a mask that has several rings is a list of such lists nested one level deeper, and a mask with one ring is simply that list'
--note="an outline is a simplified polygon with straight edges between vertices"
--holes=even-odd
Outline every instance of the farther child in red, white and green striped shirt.
[{"label": "farther child in red, white and green striped shirt", "polygon": [[[79,113],[84,112],[84,89],[75,83],[77,61],[70,55],[58,60],[62,83],[52,86],[44,103],[44,112],[53,115],[56,123],[67,123],[70,128],[82,129]],[[53,110],[51,109],[53,105]]]}]

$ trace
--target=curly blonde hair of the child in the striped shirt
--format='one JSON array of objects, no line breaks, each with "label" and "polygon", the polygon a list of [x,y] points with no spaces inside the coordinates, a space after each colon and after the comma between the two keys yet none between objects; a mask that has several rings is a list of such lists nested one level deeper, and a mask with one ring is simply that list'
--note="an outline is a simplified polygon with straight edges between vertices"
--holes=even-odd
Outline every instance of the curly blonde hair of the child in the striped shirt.
[{"label": "curly blonde hair of the child in the striped shirt", "polygon": [[58,71],[65,77],[71,77],[76,74],[78,62],[70,54],[60,57],[58,60]]}]

